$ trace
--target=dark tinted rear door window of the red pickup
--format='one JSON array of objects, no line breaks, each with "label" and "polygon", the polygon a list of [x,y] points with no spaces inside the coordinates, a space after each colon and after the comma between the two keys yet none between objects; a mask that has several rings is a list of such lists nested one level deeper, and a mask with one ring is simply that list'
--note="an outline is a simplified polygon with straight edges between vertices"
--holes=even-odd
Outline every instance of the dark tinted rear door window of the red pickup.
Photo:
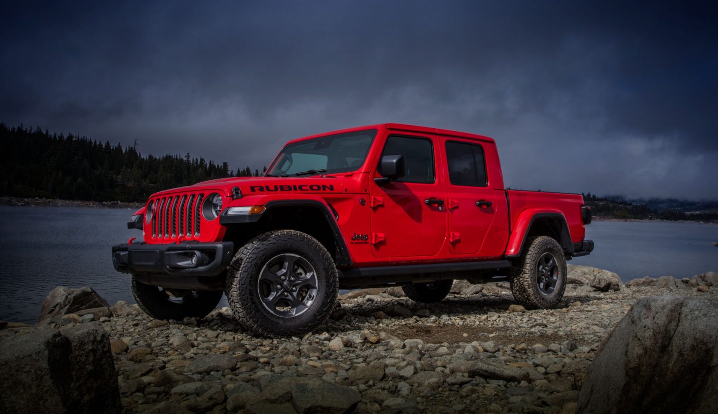
[{"label": "dark tinted rear door window of the red pickup", "polygon": [[482,146],[447,141],[447,165],[452,184],[486,187],[486,161]]}]

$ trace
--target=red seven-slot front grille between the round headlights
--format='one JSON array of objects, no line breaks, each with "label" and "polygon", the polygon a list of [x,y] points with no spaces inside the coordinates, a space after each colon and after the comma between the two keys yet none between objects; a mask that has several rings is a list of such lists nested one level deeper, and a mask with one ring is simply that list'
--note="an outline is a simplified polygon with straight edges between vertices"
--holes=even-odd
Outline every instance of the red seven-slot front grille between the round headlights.
[{"label": "red seven-slot front grille between the round headlights", "polygon": [[153,238],[200,237],[200,212],[205,194],[183,194],[154,199]]}]

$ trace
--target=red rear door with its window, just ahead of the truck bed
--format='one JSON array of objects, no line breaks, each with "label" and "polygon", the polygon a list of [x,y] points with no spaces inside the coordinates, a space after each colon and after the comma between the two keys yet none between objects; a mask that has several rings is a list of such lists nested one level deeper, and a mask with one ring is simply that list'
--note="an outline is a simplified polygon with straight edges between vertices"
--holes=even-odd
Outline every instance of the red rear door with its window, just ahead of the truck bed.
[{"label": "red rear door with its window, just ahead of the truck bed", "polygon": [[480,256],[496,208],[501,203],[488,186],[486,156],[480,141],[442,137],[447,168],[449,251]]}]

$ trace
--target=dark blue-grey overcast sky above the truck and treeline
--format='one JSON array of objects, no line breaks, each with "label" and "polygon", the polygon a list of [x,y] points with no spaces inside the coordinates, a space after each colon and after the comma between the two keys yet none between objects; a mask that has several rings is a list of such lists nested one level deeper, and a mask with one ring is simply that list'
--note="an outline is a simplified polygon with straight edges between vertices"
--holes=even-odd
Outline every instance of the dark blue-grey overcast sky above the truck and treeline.
[{"label": "dark blue-grey overcast sky above the truck and treeline", "polygon": [[0,122],[269,164],[399,122],[495,138],[506,185],[718,199],[718,14],[675,1],[0,5]]}]

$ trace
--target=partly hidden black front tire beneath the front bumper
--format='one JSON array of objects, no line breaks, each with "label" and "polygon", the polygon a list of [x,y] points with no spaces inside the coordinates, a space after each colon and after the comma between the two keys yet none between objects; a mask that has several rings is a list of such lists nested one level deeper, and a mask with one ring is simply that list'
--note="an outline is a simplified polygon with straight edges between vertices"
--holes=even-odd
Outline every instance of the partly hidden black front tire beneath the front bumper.
[{"label": "partly hidden black front tire beneath the front bumper", "polygon": [[204,318],[222,300],[223,291],[187,291],[181,299],[173,299],[157,286],[137,281],[132,276],[132,295],[140,309],[154,319],[182,321],[190,318]]}]

